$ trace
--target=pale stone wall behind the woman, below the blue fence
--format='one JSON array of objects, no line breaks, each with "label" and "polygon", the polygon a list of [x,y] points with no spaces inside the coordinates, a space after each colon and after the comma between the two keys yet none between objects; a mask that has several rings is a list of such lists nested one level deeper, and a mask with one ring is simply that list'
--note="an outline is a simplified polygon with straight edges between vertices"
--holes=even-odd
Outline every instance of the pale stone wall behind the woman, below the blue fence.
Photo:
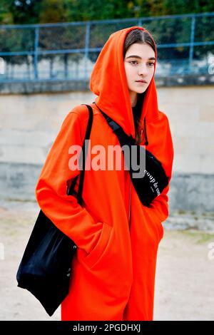
[{"label": "pale stone wall behind the woman, below the blue fence", "polygon": [[[168,115],[175,150],[173,210],[214,212],[213,93],[211,85],[158,87],[159,109]],[[0,198],[35,200],[36,180],[63,118],[95,98],[85,88],[1,95]]]}]

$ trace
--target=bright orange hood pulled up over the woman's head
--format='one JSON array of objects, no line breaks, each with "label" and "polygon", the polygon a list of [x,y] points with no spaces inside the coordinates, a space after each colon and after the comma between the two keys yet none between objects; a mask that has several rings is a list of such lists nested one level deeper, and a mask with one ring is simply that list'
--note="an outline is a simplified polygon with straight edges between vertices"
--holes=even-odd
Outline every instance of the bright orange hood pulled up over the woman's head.
[{"label": "bright orange hood pulled up over the woman's head", "polygon": [[[127,34],[133,29],[143,29],[141,26],[132,26],[116,31],[109,36],[93,67],[90,80],[90,90],[98,96],[95,100],[104,113],[116,121],[128,136],[136,137],[133,110],[128,92],[126,72],[123,63],[123,44]],[[147,31],[148,32],[148,31]],[[151,34],[150,34],[151,35]],[[153,38],[151,36],[151,38]],[[155,43],[155,42],[154,42]],[[156,43],[155,43],[156,46]],[[157,59],[157,48],[155,50]],[[158,100],[154,75],[146,89],[142,110],[141,125],[158,118]]]}]

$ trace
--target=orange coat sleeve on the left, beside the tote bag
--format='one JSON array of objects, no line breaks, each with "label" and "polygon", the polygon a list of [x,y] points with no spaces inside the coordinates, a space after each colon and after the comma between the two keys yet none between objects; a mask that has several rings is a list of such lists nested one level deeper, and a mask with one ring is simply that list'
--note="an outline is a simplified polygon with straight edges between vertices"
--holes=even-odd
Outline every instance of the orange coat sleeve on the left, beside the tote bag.
[{"label": "orange coat sleeve on the left, beside the tote bag", "polygon": [[86,129],[81,129],[79,118],[78,113],[71,111],[63,120],[39,175],[35,193],[39,207],[54,225],[78,247],[91,252],[98,242],[103,222],[93,220],[89,212],[78,204],[76,197],[66,194],[67,180],[81,172],[68,168],[68,161],[72,157],[68,149],[71,145],[82,147],[86,132]]}]

